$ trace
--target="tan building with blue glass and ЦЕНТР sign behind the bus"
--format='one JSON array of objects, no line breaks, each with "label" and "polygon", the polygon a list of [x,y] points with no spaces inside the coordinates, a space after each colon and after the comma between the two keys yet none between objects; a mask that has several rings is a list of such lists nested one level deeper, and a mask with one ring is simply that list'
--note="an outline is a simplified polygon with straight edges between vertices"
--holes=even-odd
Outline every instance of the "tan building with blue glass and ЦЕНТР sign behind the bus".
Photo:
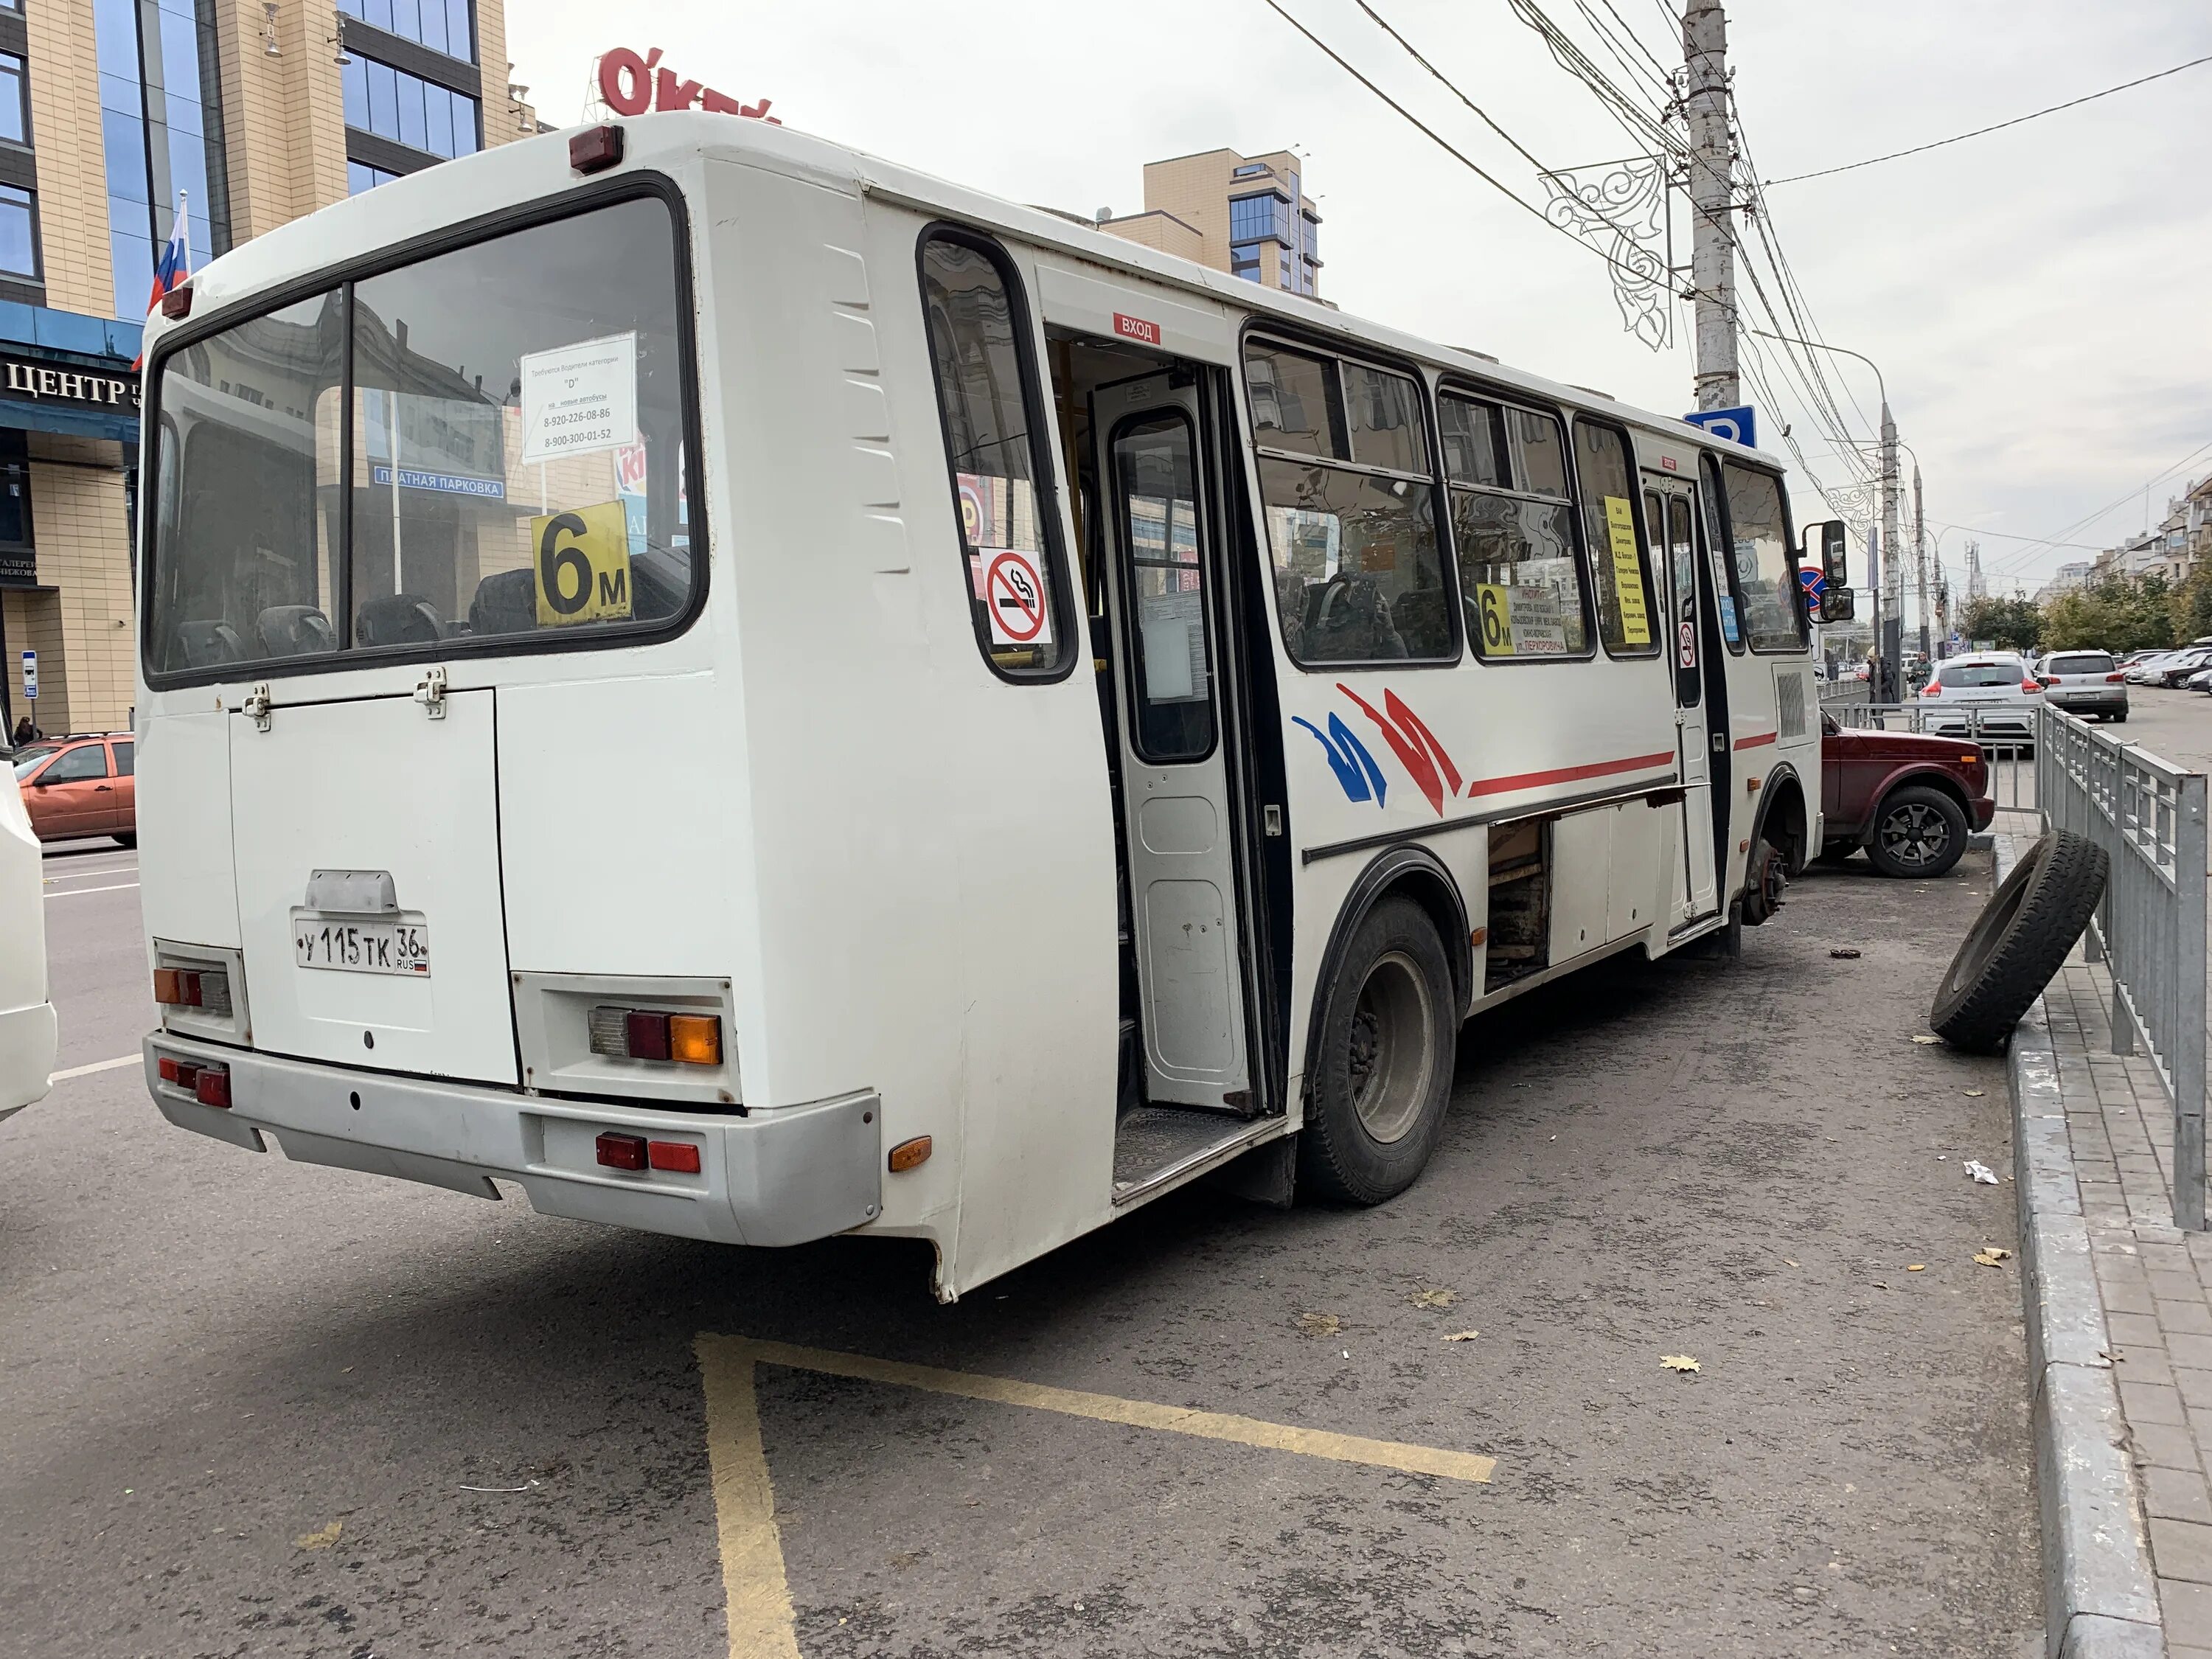
[{"label": "tan building with blue glass and \u0426\u0415\u041d\u0422\u0420 sign behind the bus", "polygon": [[0,712],[131,714],[139,327],[192,265],[538,131],[504,0],[0,0]]}]

